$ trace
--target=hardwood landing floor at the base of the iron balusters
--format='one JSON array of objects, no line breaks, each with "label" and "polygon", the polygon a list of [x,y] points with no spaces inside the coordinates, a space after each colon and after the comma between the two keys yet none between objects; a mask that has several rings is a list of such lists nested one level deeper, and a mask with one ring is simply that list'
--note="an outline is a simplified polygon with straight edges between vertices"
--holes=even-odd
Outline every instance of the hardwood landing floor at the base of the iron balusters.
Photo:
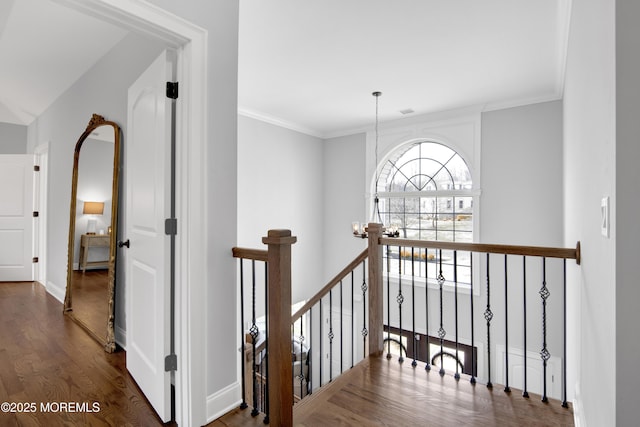
[{"label": "hardwood landing floor at the base of the iron balusters", "polygon": [[[295,426],[573,426],[573,411],[540,396],[370,358],[296,404]],[[258,426],[262,417],[234,410],[208,427]]]}]

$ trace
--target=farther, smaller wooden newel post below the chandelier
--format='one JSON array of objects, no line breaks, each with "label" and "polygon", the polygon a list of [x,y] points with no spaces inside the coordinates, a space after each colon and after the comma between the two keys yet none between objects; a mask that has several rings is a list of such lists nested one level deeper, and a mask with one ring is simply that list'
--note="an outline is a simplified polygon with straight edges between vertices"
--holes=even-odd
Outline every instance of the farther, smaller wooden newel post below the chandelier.
[{"label": "farther, smaller wooden newel post below the chandelier", "polygon": [[384,309],[382,286],[382,246],[379,243],[384,232],[382,224],[369,223],[369,355],[380,355],[384,340]]}]

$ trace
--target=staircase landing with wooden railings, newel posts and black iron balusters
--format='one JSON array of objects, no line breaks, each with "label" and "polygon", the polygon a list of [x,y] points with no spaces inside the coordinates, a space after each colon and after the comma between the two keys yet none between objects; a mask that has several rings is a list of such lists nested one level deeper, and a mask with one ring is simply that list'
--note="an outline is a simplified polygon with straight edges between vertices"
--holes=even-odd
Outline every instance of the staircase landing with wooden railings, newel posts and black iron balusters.
[{"label": "staircase landing with wooden railings, newel posts and black iron balusters", "polygon": [[[293,315],[295,237],[272,230],[266,251],[234,248],[249,325],[242,409],[234,412],[279,426],[451,425],[470,416],[479,425],[572,424],[564,295],[579,244],[415,241],[385,236],[379,224],[369,224],[367,237],[368,248]],[[257,302],[264,295],[268,306]],[[267,331],[256,307],[265,308]]]}]

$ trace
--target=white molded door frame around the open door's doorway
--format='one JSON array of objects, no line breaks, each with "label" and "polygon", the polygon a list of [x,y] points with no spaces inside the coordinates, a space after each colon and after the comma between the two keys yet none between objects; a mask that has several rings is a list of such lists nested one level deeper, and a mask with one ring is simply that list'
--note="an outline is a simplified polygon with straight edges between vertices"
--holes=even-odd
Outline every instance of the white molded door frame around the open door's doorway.
[{"label": "white molded door frame around the open door's doorway", "polygon": [[[178,52],[176,110],[176,422],[206,424],[206,194],[208,32],[140,0],[55,0],[151,36]],[[126,142],[125,142],[126,143]]]}]

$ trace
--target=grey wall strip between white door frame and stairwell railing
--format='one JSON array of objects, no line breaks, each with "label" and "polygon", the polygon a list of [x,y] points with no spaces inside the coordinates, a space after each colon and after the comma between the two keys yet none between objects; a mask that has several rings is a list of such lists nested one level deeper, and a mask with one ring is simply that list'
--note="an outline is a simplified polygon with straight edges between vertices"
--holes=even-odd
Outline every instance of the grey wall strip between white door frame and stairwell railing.
[{"label": "grey wall strip between white door frame and stairwell railing", "polygon": [[[151,0],[150,3],[208,31],[207,63],[207,395],[238,380],[237,360],[238,0]],[[223,367],[224,368],[221,368]],[[196,398],[196,397],[194,397]],[[219,408],[218,408],[219,409]],[[215,410],[214,410],[215,413]]]}]

